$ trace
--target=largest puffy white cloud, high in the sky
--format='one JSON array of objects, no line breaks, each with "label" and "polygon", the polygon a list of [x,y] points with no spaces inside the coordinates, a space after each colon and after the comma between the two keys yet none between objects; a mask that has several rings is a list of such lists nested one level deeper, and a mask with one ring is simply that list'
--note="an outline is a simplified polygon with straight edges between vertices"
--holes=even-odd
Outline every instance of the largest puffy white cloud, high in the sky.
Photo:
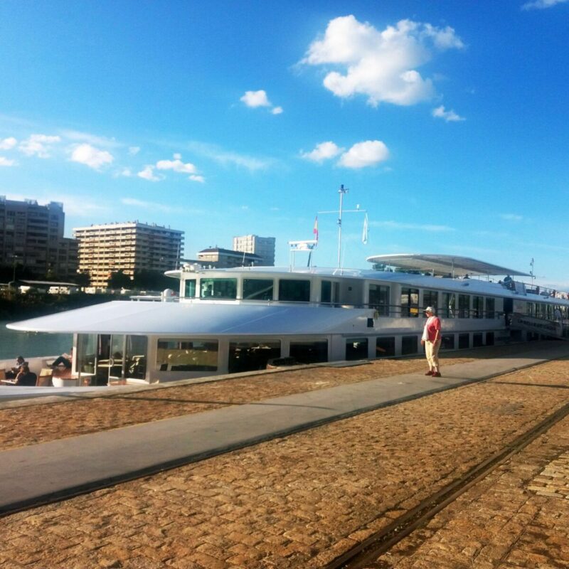
[{"label": "largest puffy white cloud, high in the sky", "polygon": [[337,97],[366,95],[368,103],[414,105],[435,95],[431,79],[417,68],[432,58],[434,50],[462,48],[454,29],[401,20],[378,31],[354,16],[329,21],[324,38],[313,41],[302,63],[336,65],[324,78],[324,87]]}]

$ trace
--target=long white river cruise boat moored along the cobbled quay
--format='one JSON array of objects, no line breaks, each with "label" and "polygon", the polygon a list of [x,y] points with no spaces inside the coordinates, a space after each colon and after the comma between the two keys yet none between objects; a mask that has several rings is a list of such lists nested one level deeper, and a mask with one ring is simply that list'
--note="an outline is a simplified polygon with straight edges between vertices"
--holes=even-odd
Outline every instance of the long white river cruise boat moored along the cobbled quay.
[{"label": "long white river cruise boat moored along the cobbled quay", "polygon": [[526,273],[450,255],[368,261],[384,270],[186,265],[166,273],[177,294],[156,302],[134,297],[8,327],[73,333],[73,376],[91,385],[412,356],[427,306],[442,319],[442,350],[564,335],[567,295],[512,278]]}]

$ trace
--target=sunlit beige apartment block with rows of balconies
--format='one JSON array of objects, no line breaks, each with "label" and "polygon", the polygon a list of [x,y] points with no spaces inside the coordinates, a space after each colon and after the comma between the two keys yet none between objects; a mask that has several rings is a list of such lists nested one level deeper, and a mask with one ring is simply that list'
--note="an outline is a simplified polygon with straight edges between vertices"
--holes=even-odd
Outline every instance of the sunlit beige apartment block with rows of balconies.
[{"label": "sunlit beige apartment block with rows of balconies", "polygon": [[119,270],[130,277],[139,270],[174,270],[184,247],[184,231],[156,223],[105,223],[73,233],[79,242],[79,272],[89,274],[93,287],[106,287]]}]

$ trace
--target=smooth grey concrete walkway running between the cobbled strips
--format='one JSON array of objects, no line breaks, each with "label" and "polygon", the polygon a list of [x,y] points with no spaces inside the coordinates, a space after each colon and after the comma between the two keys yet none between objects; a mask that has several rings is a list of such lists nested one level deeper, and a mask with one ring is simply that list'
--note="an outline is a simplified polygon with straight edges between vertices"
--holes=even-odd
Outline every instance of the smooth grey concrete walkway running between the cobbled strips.
[{"label": "smooth grey concrete walkway running between the cobbled strips", "polygon": [[6,450],[0,452],[0,513],[567,356],[569,344],[528,346],[523,356],[449,366],[442,378],[410,373]]}]

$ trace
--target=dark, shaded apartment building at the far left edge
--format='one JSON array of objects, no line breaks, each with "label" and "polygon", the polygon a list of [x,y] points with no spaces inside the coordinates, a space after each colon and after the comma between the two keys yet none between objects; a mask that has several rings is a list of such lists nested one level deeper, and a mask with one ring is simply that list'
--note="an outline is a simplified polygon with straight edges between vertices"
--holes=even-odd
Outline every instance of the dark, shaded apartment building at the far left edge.
[{"label": "dark, shaded apartment building at the far left edge", "polygon": [[36,277],[73,277],[76,248],[63,238],[64,225],[63,203],[40,206],[36,200],[0,196],[0,265],[23,265]]}]

